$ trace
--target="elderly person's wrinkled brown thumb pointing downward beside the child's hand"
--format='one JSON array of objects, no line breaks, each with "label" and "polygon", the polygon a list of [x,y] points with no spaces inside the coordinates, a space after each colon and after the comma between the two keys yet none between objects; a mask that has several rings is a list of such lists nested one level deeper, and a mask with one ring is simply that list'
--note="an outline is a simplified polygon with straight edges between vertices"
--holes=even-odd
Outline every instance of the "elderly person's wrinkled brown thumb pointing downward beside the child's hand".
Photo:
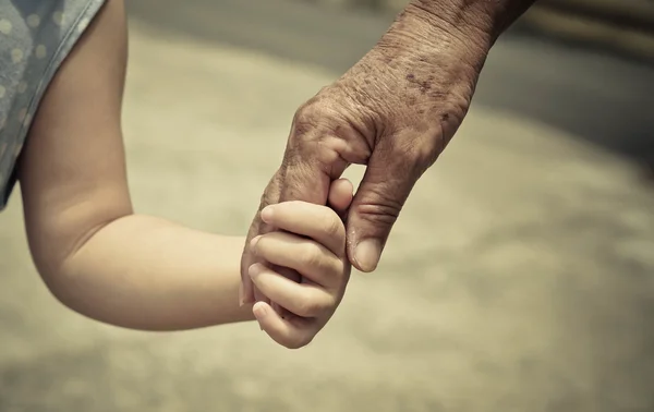
[{"label": "elderly person's wrinkled brown thumb pointing downward beside the child's hand", "polygon": [[407,197],[420,173],[392,153],[373,153],[347,221],[348,256],[361,271],[375,270]]}]

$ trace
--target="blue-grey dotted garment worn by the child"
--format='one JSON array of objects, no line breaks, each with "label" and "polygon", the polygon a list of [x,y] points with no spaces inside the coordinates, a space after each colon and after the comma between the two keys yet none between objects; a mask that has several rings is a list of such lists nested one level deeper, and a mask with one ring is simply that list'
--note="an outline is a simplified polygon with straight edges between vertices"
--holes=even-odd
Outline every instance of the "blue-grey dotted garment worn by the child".
[{"label": "blue-grey dotted garment worn by the child", "polygon": [[0,210],[40,99],[105,0],[0,0]]}]

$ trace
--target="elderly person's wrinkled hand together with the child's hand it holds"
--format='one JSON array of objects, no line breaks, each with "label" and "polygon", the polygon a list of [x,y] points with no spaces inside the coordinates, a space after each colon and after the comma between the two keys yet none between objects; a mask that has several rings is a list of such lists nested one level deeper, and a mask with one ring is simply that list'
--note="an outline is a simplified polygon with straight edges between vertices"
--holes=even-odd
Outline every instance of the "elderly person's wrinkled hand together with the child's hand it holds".
[{"label": "elderly person's wrinkled hand together with the child's hand it holds", "polygon": [[[275,341],[307,344],[340,303],[350,264],[376,268],[413,185],[463,121],[492,45],[531,3],[411,1],[296,111],[241,260],[241,303],[256,302]],[[353,197],[339,180],[352,163],[366,165]]]}]

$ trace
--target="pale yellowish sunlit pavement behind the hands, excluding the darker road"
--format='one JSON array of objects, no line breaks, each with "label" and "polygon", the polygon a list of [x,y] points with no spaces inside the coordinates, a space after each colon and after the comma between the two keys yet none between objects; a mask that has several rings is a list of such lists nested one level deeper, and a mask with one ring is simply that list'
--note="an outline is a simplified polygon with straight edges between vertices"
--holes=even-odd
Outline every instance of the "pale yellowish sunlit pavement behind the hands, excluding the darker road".
[{"label": "pale yellowish sunlit pavement behind the hands, excluding the darker road", "polygon": [[[335,74],[137,22],[132,35],[137,209],[243,233],[294,108]],[[651,411],[652,210],[630,165],[479,105],[379,270],[292,352],[255,325],[146,335],[70,313],[32,267],[15,196],[0,216],[0,411]]]}]

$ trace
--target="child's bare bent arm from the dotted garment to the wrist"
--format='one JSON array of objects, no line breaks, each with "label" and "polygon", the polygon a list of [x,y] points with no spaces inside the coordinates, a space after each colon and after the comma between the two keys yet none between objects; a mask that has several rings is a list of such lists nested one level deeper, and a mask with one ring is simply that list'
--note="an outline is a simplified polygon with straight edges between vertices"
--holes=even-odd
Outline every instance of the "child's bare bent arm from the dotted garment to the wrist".
[{"label": "child's bare bent arm from the dotted garment to the wrist", "polygon": [[[254,319],[252,305],[240,306],[238,298],[243,238],[133,213],[120,124],[125,65],[123,2],[110,0],[49,85],[19,165],[29,247],[39,274],[66,306],[117,326],[179,330]],[[341,208],[351,201],[348,187],[349,194],[336,197]],[[277,211],[298,205],[279,206]],[[280,222],[293,229],[284,225]],[[341,232],[329,233],[324,242],[329,244],[334,235]],[[262,256],[276,262],[276,251],[263,250]],[[332,265],[334,256],[327,257]],[[311,270],[307,277],[322,281],[320,274]],[[287,347],[308,342],[340,302],[347,276],[336,280],[316,286],[337,298],[332,300],[291,291],[313,308],[298,311],[307,315],[304,319],[288,320],[303,322],[302,334],[283,329],[287,319],[262,316],[259,303],[262,326]],[[282,287],[266,290],[283,301],[289,295],[278,291]],[[322,299],[315,306],[307,304],[313,296]]]}]

